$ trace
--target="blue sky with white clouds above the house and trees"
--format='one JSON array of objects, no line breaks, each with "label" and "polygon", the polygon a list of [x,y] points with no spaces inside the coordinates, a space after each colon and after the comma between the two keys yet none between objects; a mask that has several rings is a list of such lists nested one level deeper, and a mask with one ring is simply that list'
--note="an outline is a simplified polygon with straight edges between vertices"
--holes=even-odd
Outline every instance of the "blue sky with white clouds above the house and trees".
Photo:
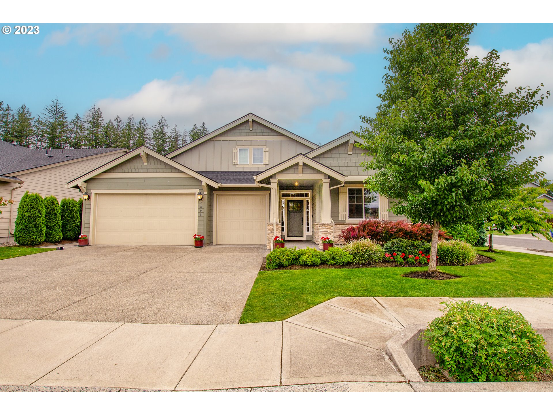
[{"label": "blue sky with white clouds above the house and trees", "polygon": [[[3,25],[3,24],[2,24]],[[0,100],[40,113],[58,97],[69,115],[94,103],[106,120],[161,115],[215,129],[254,112],[316,143],[374,115],[389,37],[413,24],[40,24],[0,35]],[[497,49],[510,85],[553,89],[553,24],[479,24],[471,51]],[[553,176],[553,101],[524,120]]]}]

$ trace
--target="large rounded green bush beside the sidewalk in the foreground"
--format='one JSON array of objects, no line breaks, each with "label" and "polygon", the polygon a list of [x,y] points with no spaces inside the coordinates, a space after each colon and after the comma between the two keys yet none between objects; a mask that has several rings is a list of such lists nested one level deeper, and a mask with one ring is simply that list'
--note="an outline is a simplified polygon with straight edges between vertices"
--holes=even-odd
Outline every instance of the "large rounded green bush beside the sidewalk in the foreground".
[{"label": "large rounded green bush beside the sidewalk in the foreground", "polygon": [[471,300],[445,304],[420,338],[461,382],[535,380],[551,367],[544,338],[520,313]]}]

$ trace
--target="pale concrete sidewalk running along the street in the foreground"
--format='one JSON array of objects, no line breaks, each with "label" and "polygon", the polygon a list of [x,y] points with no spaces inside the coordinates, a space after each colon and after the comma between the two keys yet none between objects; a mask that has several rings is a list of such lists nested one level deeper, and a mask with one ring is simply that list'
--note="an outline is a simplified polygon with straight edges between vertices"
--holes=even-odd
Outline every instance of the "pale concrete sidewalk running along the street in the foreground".
[{"label": "pale concrete sidewalk running along the street in the foreground", "polygon": [[[453,299],[337,297],[241,325],[0,320],[0,385],[12,385],[0,391],[412,391],[385,343],[441,315],[444,300]],[[553,326],[553,298],[474,300]]]}]

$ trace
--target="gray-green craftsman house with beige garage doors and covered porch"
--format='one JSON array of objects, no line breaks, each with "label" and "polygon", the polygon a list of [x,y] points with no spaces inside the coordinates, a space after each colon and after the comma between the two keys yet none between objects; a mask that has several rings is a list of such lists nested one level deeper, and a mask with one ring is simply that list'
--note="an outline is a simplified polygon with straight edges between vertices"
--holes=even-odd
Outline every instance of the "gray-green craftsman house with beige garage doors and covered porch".
[{"label": "gray-green craftsman house with beige garage doors and covered porch", "polygon": [[266,245],[338,241],[363,218],[406,219],[363,188],[349,132],[319,146],[249,113],[163,156],[140,147],[67,183],[90,195],[91,244]]}]

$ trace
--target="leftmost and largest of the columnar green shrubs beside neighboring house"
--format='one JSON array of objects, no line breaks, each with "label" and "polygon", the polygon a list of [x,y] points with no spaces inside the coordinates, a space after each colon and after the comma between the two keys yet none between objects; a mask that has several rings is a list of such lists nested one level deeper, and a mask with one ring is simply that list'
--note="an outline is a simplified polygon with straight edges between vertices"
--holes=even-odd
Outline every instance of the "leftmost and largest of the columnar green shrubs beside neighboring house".
[{"label": "leftmost and largest of the columnar green shrubs beside neighboring house", "polygon": [[44,242],[46,226],[44,224],[44,199],[38,193],[26,191],[19,201],[14,241],[19,245],[38,245]]}]

